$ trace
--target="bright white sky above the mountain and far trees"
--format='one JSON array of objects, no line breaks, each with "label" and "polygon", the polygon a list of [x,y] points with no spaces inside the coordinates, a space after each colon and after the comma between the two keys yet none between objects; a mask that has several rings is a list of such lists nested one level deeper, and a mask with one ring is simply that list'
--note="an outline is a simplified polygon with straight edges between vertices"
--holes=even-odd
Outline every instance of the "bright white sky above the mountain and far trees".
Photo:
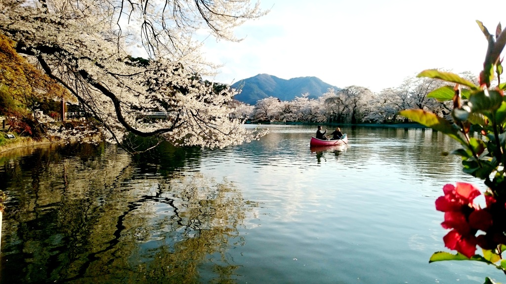
[{"label": "bright white sky above the mountain and far trees", "polygon": [[261,6],[269,14],[235,29],[242,41],[204,41],[205,58],[224,64],[212,80],[315,76],[379,92],[425,69],[478,75],[487,40],[476,20],[490,33],[500,21],[506,28],[504,0],[261,0]]}]

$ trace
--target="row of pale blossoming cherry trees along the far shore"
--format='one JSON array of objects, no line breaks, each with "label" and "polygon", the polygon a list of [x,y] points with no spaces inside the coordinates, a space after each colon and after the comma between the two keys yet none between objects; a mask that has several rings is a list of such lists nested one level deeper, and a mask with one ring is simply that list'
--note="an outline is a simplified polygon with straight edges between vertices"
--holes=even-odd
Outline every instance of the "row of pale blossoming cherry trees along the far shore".
[{"label": "row of pale blossoming cherry trees along the far shore", "polygon": [[[459,74],[472,82],[478,78],[471,72]],[[439,102],[429,93],[444,86],[434,78],[407,77],[400,86],[372,92],[362,86],[348,86],[341,90],[330,88],[318,99],[301,94],[292,101],[269,97],[255,106],[235,102],[234,116],[252,121],[318,122],[318,123],[397,123],[408,122],[399,111],[420,109],[451,119],[451,102]]]}]

